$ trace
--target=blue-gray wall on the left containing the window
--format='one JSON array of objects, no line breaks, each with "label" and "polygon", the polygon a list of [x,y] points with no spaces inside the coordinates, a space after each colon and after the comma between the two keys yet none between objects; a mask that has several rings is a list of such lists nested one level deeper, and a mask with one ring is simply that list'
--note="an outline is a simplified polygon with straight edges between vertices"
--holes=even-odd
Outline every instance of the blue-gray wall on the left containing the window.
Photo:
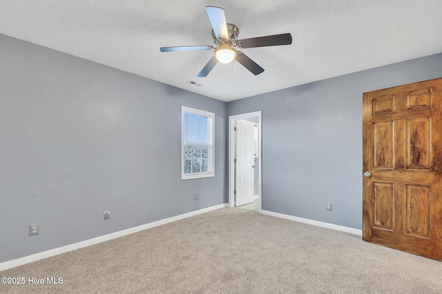
[{"label": "blue-gray wall on the left containing the window", "polygon": [[[181,105],[215,113],[214,178],[180,180]],[[226,202],[226,118],[227,103],[0,34],[0,262]]]}]

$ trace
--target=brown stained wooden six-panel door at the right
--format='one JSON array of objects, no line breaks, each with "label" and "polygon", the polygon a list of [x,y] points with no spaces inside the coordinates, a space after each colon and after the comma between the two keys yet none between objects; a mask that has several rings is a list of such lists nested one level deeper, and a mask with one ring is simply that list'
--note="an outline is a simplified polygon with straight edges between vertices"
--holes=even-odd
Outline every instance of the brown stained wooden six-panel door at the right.
[{"label": "brown stained wooden six-panel door at the right", "polygon": [[442,260],[441,116],[442,78],[363,94],[363,240]]}]

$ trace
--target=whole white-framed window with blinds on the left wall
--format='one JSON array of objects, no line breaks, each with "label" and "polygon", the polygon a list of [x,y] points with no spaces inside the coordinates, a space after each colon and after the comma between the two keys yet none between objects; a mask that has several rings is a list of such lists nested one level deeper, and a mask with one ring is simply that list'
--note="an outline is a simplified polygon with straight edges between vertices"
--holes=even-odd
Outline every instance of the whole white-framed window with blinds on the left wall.
[{"label": "whole white-framed window with blinds on the left wall", "polygon": [[182,106],[181,179],[215,176],[215,114]]}]

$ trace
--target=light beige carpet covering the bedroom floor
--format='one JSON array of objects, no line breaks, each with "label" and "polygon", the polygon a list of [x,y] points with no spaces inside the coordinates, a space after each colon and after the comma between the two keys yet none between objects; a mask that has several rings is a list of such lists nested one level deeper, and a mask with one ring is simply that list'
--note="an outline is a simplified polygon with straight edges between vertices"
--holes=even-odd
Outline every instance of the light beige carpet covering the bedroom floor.
[{"label": "light beige carpet covering the bedroom floor", "polygon": [[442,293],[442,262],[223,208],[0,272],[0,293]]}]

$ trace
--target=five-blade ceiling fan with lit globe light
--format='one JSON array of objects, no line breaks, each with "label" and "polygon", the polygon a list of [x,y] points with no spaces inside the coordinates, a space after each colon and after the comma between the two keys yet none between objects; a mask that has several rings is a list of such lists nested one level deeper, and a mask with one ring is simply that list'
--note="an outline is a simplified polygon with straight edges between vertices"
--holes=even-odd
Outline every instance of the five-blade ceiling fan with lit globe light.
[{"label": "five-blade ceiling fan with lit globe light", "polygon": [[204,66],[198,77],[207,76],[209,72],[218,63],[229,63],[235,59],[241,65],[247,68],[252,74],[258,75],[264,72],[255,61],[251,60],[246,54],[236,50],[237,48],[256,48],[276,45],[290,45],[291,34],[273,34],[271,36],[258,36],[256,38],[238,40],[240,30],[236,25],[226,23],[224,9],[215,6],[206,6],[206,12],[212,25],[212,38],[217,46],[176,46],[162,47],[161,52],[176,52],[190,50],[215,50],[211,60]]}]

